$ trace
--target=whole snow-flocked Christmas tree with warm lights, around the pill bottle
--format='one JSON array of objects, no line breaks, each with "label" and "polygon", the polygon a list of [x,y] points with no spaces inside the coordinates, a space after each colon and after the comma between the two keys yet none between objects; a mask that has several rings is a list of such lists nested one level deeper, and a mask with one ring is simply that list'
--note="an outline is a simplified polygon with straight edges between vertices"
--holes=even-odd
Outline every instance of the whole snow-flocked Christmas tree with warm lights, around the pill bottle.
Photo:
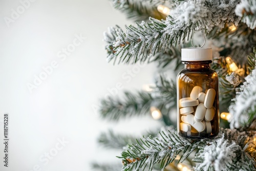
[{"label": "whole snow-flocked Christmas tree with warm lights, around the pill bottle", "polygon": [[[138,20],[138,23],[126,26],[125,30],[118,26],[112,27],[108,33],[104,33],[107,60],[114,63],[117,60],[118,63],[154,61],[158,62],[158,67],[162,69],[175,62],[175,66],[169,65],[172,66],[170,72],[174,72],[181,66],[181,48],[191,47],[186,41],[191,38],[192,30],[202,29],[207,38],[212,39],[211,48],[216,50],[213,53],[215,60],[212,68],[219,76],[220,111],[227,112],[231,99],[236,97],[229,107],[232,116],[230,127],[239,129],[221,129],[217,137],[201,140],[182,138],[172,129],[170,132],[161,132],[158,136],[152,134],[147,138],[143,137],[137,144],[134,143],[136,141],[133,136],[113,132],[102,133],[99,142],[103,146],[123,147],[130,138],[132,141],[129,143],[134,143],[119,157],[124,164],[122,170],[153,170],[154,167],[167,171],[173,170],[170,163],[176,165],[183,161],[189,161],[190,168],[194,166],[193,170],[200,171],[256,170],[256,50],[251,53],[252,47],[256,45],[256,1],[112,2],[116,9],[126,13],[131,19]],[[165,19],[162,16],[162,19],[158,19],[159,12],[154,14],[157,5],[164,5],[170,9]],[[147,19],[148,16],[151,17]],[[141,21],[142,19],[145,21]],[[211,41],[209,39],[207,41]],[[250,55],[246,58],[248,54]],[[230,63],[226,62],[227,56],[232,57],[237,68],[244,69],[245,72],[236,75],[238,72],[231,71]],[[245,76],[247,77],[244,80]],[[240,92],[236,95],[240,86]],[[158,112],[162,117],[160,120],[165,125],[175,125],[175,121],[170,119],[170,110],[176,108],[176,93],[175,81],[170,81],[162,75],[151,92],[126,91],[122,99],[109,97],[101,100],[100,114],[103,118],[117,121],[120,118],[150,112],[153,116],[154,112]],[[195,163],[190,162],[191,158]],[[108,165],[102,165],[102,169],[114,170]],[[177,165],[174,169],[181,168]]]}]

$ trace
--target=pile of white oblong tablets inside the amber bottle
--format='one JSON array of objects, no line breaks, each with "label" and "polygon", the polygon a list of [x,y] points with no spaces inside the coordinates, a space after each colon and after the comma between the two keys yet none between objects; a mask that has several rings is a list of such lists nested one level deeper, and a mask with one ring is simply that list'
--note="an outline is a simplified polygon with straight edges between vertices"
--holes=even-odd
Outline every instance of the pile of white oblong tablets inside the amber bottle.
[{"label": "pile of white oblong tablets inside the amber bottle", "polygon": [[210,121],[215,116],[215,108],[212,106],[215,101],[216,91],[208,89],[206,93],[203,89],[195,86],[190,93],[190,97],[179,100],[181,123],[180,130],[186,132],[187,136],[192,133],[211,133]]}]

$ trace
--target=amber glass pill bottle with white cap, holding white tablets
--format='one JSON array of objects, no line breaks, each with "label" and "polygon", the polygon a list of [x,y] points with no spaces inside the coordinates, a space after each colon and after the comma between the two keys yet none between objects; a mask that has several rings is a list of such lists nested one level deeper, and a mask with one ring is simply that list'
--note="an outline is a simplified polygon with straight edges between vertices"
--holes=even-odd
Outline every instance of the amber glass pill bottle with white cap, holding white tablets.
[{"label": "amber glass pill bottle with white cap, holding white tablets", "polygon": [[182,48],[185,68],[177,76],[177,131],[186,138],[219,133],[218,75],[210,68],[211,48]]}]

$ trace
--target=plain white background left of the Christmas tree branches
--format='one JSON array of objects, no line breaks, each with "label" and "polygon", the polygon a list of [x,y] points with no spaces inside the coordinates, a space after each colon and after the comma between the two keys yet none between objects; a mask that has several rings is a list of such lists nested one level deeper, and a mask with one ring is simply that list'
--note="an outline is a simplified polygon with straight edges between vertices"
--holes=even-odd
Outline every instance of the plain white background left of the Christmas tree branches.
[{"label": "plain white background left of the Christmas tree branches", "polygon": [[[37,0],[7,24],[6,17],[12,18],[13,10],[22,10],[21,6],[17,0],[0,1],[0,170],[87,171],[93,161],[121,162],[115,157],[119,152],[110,153],[96,143],[99,133],[112,127],[138,135],[158,123],[148,117],[140,124],[129,118],[117,124],[100,119],[93,110],[117,82],[123,85],[119,96],[123,90],[140,90],[154,82],[153,65],[136,70],[128,81],[122,76],[134,66],[113,66],[105,60],[103,32],[132,22],[108,0]],[[86,39],[61,60],[57,53],[80,34]],[[33,84],[52,61],[58,67],[31,93],[27,84]],[[8,167],[3,162],[5,113],[9,114]],[[68,141],[65,146],[58,144],[62,138]],[[49,152],[54,156],[46,162]]]}]

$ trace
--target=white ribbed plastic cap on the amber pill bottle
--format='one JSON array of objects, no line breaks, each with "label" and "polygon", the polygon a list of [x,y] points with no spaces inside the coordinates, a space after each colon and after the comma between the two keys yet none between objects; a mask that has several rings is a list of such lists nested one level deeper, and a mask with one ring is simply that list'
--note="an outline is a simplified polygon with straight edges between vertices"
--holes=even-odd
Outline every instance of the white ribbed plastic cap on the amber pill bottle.
[{"label": "white ribbed plastic cap on the amber pill bottle", "polygon": [[181,60],[182,61],[212,60],[212,50],[211,48],[182,48]]}]

